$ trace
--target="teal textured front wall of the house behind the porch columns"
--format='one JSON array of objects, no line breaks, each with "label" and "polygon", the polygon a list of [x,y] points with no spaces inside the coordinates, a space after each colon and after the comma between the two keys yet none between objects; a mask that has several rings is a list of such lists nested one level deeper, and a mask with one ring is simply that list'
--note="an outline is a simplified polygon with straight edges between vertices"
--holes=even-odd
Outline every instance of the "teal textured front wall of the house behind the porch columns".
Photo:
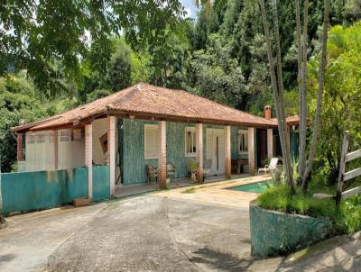
[{"label": "teal textured front wall of the house behind the porch columns", "polygon": [[[144,124],[157,124],[156,121],[123,119],[121,153],[123,168],[123,184],[133,185],[147,182],[146,165],[158,166],[158,159],[144,159]],[[188,157],[185,155],[185,127],[194,127],[194,123],[167,122],[167,161],[174,164],[176,177],[188,176]],[[223,129],[222,125],[203,125],[203,158],[206,158],[206,130],[208,128]],[[246,159],[247,154],[238,154],[238,130],[245,127],[231,127],[232,159]]]}]

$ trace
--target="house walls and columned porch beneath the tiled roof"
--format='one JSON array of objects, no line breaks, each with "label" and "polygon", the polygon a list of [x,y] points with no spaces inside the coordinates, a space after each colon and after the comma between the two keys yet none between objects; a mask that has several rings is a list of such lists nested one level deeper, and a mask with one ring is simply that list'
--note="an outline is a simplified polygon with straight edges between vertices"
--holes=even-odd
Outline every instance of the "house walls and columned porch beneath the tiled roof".
[{"label": "house walls and columned porch beneath the tiled roof", "polygon": [[[109,195],[126,196],[165,188],[167,164],[175,169],[171,187],[176,181],[191,186],[189,160],[197,163],[198,182],[205,177],[208,183],[254,175],[260,158],[273,157],[273,129],[245,125],[106,116],[83,127],[23,136],[18,150],[24,143],[25,171],[88,168],[89,199],[98,166],[109,169]],[[148,185],[147,166],[157,168],[156,185]]]}]

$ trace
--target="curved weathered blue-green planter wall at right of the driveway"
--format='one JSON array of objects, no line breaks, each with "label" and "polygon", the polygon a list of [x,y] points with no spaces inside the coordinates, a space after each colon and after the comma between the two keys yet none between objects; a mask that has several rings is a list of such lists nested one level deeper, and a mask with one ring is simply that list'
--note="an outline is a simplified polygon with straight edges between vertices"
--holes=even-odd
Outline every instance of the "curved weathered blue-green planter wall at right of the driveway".
[{"label": "curved weathered blue-green planter wall at right of the driveway", "polygon": [[332,222],[299,214],[279,213],[249,204],[251,254],[284,255],[334,235]]}]

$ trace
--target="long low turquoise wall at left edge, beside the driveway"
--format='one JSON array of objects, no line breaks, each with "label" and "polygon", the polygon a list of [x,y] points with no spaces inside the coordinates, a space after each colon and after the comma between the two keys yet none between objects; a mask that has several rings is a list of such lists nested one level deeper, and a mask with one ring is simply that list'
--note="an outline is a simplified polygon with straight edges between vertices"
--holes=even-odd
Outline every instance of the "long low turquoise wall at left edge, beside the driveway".
[{"label": "long low turquoise wall at left edge, beside the driveway", "polygon": [[49,209],[88,197],[88,169],[7,173],[1,175],[3,213]]}]

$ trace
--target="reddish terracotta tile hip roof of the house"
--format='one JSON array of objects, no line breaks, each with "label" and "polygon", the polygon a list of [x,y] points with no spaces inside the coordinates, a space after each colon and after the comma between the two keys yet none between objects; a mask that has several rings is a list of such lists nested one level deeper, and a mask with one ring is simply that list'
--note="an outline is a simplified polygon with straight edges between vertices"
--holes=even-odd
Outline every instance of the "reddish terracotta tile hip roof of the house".
[{"label": "reddish terracotta tile hip roof of the house", "polygon": [[274,127],[277,125],[274,120],[266,120],[263,117],[244,113],[183,90],[173,90],[140,83],[113,95],[80,105],[68,112],[55,115],[45,122],[34,122],[33,125],[27,124],[15,127],[13,131],[46,130],[85,122],[88,118],[108,113],[129,114],[140,116],[140,118],[149,116],[186,122],[218,122],[260,127]]}]

